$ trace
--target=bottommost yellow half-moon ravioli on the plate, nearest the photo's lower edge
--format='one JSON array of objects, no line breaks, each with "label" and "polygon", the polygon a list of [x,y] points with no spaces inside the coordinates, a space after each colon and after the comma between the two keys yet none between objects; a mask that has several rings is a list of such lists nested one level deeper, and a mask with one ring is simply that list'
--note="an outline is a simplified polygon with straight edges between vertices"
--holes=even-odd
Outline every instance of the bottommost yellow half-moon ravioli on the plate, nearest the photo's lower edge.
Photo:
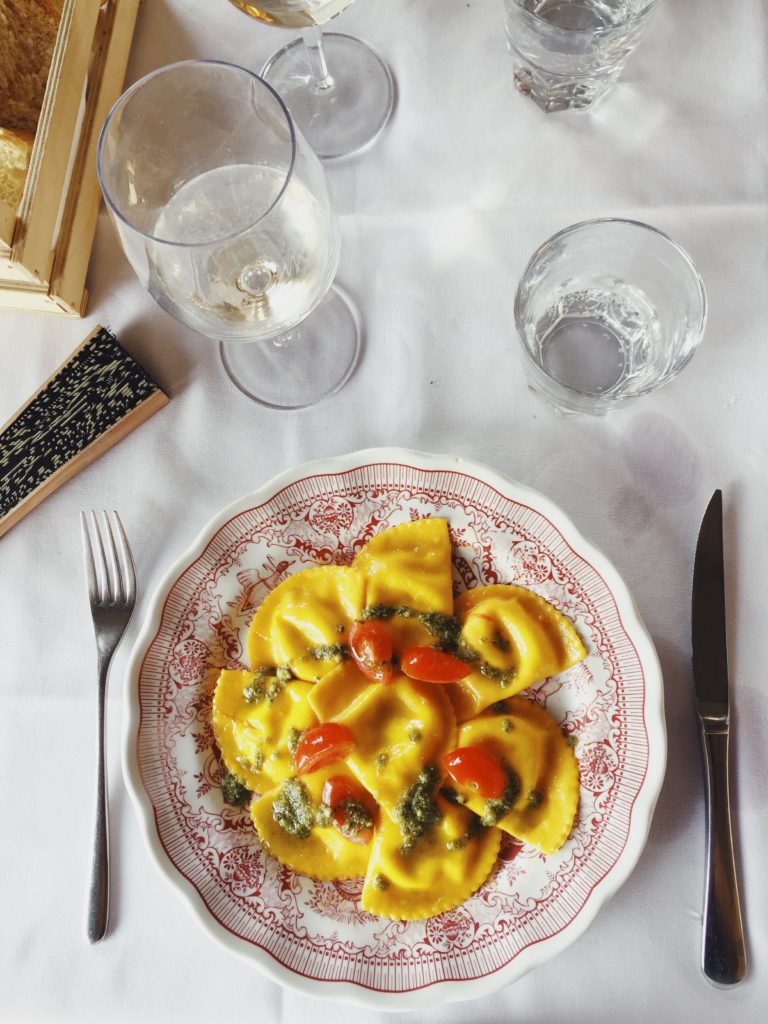
[{"label": "bottommost yellow half-moon ravioli on the plate, nearest the photo's lower edge", "polygon": [[498,828],[468,838],[477,819],[465,807],[437,797],[442,819],[411,850],[400,850],[396,821],[381,815],[366,882],[362,907],[398,921],[431,918],[468,899],[488,877],[501,844]]}]

